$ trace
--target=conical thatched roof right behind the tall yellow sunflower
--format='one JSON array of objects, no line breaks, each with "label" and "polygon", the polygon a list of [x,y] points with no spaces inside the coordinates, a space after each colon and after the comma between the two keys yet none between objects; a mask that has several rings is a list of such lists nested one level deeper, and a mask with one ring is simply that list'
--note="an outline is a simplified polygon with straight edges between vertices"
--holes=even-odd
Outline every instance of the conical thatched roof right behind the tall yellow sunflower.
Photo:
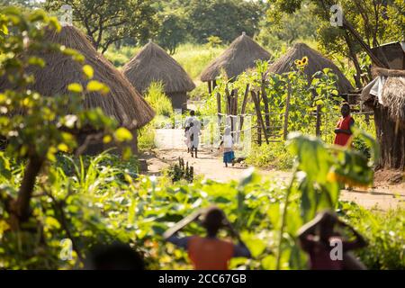
[{"label": "conical thatched roof right behind the tall yellow sunflower", "polygon": [[338,91],[340,94],[346,94],[353,90],[352,85],[347,80],[347,77],[339,70],[339,68],[329,59],[325,58],[317,50],[311,49],[304,43],[297,43],[292,49],[289,49],[283,57],[273,63],[268,71],[276,74],[287,73],[295,69],[294,61],[303,57],[308,57],[309,63],[304,69],[304,73],[309,79],[318,71],[324,68],[332,69],[333,73],[338,76]]}]

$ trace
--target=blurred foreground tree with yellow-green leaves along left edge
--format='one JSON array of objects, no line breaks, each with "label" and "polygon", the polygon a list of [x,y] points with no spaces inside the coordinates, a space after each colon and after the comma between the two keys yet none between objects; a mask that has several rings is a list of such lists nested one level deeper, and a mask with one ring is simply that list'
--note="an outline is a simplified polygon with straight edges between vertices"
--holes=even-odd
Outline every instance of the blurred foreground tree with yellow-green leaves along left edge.
[{"label": "blurred foreground tree with yellow-green leaves along left edge", "polygon": [[[0,204],[8,214],[4,218],[14,230],[22,229],[22,223],[31,219],[31,197],[40,171],[55,160],[58,152],[76,148],[77,132],[94,128],[112,138],[116,127],[116,122],[104,116],[101,109],[85,110],[82,104],[86,92],[108,91],[101,83],[89,81],[85,88],[71,84],[69,95],[42,96],[31,91],[35,79],[26,73],[27,68],[46,65],[37,56],[39,52],[61,53],[81,63],[85,60],[76,50],[44,41],[44,31],[49,29],[59,31],[60,26],[41,10],[23,14],[9,7],[0,11],[0,76],[10,84],[0,93],[0,139],[5,139],[0,171],[10,166],[4,155],[15,162],[26,162],[16,191],[14,187],[0,187]],[[85,65],[83,71],[83,76],[91,80],[93,68]]]}]

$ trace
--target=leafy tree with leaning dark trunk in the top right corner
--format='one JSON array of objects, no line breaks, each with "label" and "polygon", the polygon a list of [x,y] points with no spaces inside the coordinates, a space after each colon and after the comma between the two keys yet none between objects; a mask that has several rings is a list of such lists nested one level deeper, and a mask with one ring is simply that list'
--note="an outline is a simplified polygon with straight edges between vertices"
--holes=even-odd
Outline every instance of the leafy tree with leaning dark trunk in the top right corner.
[{"label": "leafy tree with leaning dark trunk in the top right corner", "polygon": [[[352,60],[356,67],[356,85],[361,86],[362,67],[358,59],[361,51],[371,58],[375,65],[387,67],[383,59],[377,58],[371,47],[390,40],[401,40],[405,27],[405,7],[403,1],[393,0],[344,0],[343,25],[340,29],[332,27],[330,7],[336,4],[329,0],[276,0],[270,8],[275,19],[279,14],[293,14],[302,4],[311,3],[311,14],[319,23],[320,43],[326,50],[338,51]],[[342,46],[344,44],[344,46]]]}]

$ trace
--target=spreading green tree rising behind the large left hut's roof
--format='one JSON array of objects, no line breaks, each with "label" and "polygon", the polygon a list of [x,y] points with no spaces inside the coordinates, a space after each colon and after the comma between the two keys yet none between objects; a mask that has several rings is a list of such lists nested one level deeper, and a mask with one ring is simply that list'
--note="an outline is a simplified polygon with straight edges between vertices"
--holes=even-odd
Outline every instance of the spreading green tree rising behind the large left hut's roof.
[{"label": "spreading green tree rising behind the large left hut's roof", "polygon": [[73,20],[80,23],[96,49],[104,53],[112,43],[135,38],[145,42],[157,30],[152,0],[48,0],[45,8],[57,11],[64,4],[73,8]]}]

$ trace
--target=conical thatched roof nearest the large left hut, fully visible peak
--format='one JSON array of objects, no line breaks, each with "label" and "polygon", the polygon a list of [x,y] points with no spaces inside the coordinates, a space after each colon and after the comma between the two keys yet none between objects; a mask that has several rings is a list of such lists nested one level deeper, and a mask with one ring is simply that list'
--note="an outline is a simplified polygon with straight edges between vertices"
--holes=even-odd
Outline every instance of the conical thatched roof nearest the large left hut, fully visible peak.
[{"label": "conical thatched roof nearest the large left hut, fully visible peak", "polygon": [[195,88],[184,68],[152,41],[130,59],[122,72],[142,93],[152,82],[162,82],[165,93],[188,92]]}]

